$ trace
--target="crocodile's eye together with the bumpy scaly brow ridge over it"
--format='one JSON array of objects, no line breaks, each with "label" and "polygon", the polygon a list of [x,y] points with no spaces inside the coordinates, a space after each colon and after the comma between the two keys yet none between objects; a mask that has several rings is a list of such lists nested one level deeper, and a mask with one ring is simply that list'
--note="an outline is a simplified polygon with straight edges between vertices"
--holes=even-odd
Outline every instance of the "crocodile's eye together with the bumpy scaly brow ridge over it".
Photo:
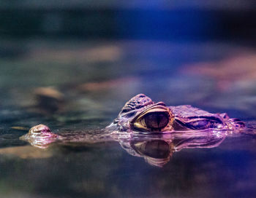
[{"label": "crocodile's eye together with the bumpy scaly brow ridge over it", "polygon": [[135,95],[130,99],[113,124],[118,130],[139,132],[166,132],[173,130],[174,114],[165,103],[154,103],[146,95]]}]

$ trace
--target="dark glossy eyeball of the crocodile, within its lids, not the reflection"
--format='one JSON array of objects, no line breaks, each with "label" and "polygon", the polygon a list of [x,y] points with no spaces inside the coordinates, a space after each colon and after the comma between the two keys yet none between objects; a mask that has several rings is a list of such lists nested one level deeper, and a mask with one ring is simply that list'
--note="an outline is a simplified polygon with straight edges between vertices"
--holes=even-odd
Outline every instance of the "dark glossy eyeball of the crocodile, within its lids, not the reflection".
[{"label": "dark glossy eyeball of the crocodile, within its lids, not the reflection", "polygon": [[162,112],[147,114],[144,119],[147,127],[151,129],[162,129],[168,124],[169,121],[168,116]]}]

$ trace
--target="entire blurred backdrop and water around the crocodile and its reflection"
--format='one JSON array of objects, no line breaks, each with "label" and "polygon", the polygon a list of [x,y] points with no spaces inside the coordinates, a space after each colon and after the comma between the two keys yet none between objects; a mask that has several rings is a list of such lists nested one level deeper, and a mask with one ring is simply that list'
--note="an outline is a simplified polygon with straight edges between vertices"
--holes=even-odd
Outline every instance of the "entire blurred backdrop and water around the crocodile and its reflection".
[{"label": "entire blurred backdrop and water around the crocodile and its reflection", "polygon": [[255,123],[255,44],[255,0],[0,0],[0,197],[255,197],[251,137],[161,170],[117,143],[18,139],[105,127],[138,93]]}]

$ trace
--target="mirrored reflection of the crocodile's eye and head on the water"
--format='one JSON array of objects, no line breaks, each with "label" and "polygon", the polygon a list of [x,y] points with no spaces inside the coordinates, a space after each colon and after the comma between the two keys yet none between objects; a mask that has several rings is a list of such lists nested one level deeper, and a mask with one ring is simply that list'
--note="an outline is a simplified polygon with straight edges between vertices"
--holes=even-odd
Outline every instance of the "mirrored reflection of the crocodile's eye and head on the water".
[{"label": "mirrored reflection of the crocodile's eye and head on the water", "polygon": [[149,165],[163,167],[174,152],[184,148],[214,148],[227,136],[225,131],[178,132],[162,137],[133,137],[119,141],[122,148],[135,157],[143,157]]}]

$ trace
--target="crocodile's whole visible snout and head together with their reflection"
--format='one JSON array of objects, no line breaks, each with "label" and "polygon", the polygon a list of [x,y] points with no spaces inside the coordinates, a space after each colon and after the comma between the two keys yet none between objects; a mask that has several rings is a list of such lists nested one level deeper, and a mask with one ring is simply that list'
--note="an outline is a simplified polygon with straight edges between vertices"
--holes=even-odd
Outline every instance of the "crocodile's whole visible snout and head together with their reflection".
[{"label": "crocodile's whole visible snout and head together with their reflection", "polygon": [[227,114],[211,114],[192,106],[165,106],[140,94],[129,100],[105,129],[58,135],[39,124],[20,140],[38,148],[48,148],[53,142],[68,145],[118,141],[129,154],[162,167],[175,151],[219,146],[228,134],[239,133],[244,127],[244,122],[230,119]]}]

